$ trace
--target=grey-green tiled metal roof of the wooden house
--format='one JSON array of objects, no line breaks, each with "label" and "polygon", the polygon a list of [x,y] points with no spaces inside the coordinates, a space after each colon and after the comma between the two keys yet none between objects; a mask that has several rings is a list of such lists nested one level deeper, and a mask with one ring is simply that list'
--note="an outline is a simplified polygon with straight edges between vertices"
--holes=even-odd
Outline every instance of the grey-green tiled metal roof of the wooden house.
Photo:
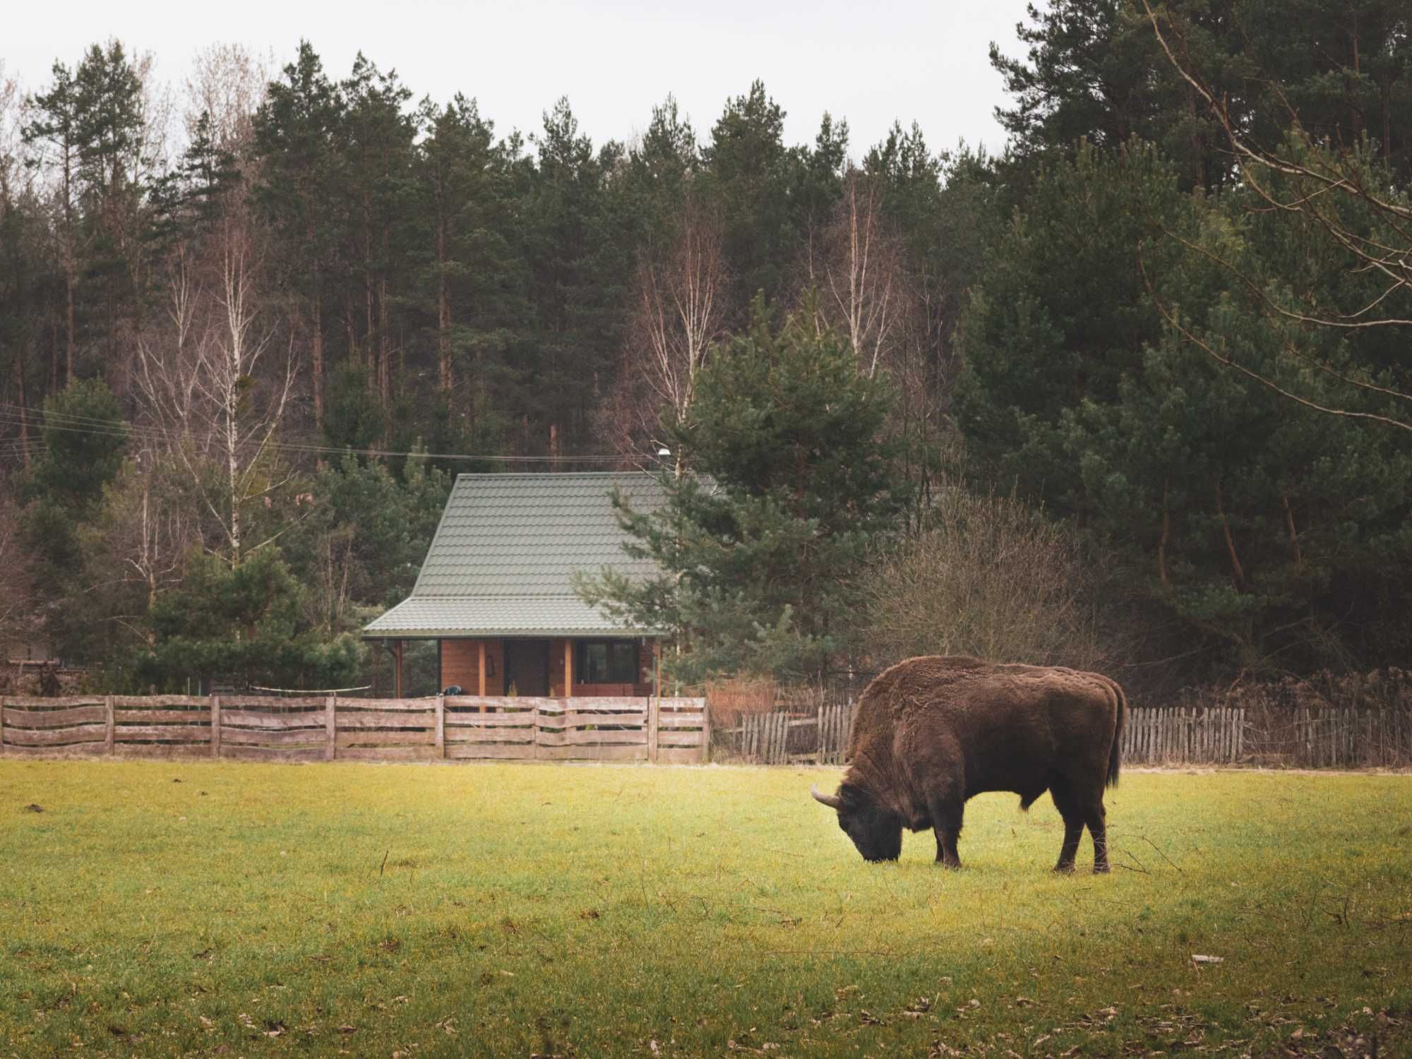
[{"label": "grey-green tiled metal roof of the wooden house", "polygon": [[459,474],[412,594],[364,637],[593,635],[627,630],[580,600],[573,570],[657,573],[623,552],[609,493],[662,503],[645,473]]}]

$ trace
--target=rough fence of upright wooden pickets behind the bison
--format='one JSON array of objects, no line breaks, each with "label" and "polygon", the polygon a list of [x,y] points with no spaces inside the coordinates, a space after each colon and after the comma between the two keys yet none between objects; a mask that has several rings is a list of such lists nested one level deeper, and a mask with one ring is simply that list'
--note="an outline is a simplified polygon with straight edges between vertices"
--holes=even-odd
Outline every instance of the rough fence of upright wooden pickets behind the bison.
[{"label": "rough fence of upright wooden pickets behind the bison", "polygon": [[[716,731],[716,757],[751,764],[843,764],[856,706],[743,714]],[[1412,709],[1137,706],[1123,726],[1131,765],[1365,768],[1412,764]]]}]

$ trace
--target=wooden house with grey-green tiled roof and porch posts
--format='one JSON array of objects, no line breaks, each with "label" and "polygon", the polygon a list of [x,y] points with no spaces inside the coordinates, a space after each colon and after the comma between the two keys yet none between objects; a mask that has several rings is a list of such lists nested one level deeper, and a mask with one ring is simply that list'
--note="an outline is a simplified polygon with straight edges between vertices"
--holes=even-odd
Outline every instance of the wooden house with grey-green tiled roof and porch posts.
[{"label": "wooden house with grey-green tiled roof and porch posts", "polygon": [[573,592],[575,570],[651,576],[623,552],[613,489],[637,510],[662,503],[645,473],[459,474],[412,594],[363,630],[397,658],[435,640],[439,686],[463,695],[655,693],[652,630],[624,628]]}]

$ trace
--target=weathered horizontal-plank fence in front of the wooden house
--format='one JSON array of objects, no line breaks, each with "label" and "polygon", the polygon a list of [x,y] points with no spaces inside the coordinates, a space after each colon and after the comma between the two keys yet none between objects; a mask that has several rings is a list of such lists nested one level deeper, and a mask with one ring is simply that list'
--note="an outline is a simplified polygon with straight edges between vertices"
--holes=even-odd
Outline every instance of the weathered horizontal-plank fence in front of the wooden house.
[{"label": "weathered horizontal-plank fence in front of the wooden house", "polygon": [[0,698],[0,755],[652,761],[710,754],[705,699]]}]

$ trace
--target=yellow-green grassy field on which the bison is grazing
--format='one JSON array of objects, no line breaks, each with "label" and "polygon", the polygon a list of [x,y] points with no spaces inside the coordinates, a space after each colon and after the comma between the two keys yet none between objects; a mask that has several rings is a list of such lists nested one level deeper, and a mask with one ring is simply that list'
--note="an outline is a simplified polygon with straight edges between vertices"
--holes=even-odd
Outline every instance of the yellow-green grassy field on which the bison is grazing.
[{"label": "yellow-green grassy field on which the bison is grazing", "polygon": [[0,1056],[1412,1055],[1412,777],[1127,774],[1056,877],[837,775],[0,761]]}]

